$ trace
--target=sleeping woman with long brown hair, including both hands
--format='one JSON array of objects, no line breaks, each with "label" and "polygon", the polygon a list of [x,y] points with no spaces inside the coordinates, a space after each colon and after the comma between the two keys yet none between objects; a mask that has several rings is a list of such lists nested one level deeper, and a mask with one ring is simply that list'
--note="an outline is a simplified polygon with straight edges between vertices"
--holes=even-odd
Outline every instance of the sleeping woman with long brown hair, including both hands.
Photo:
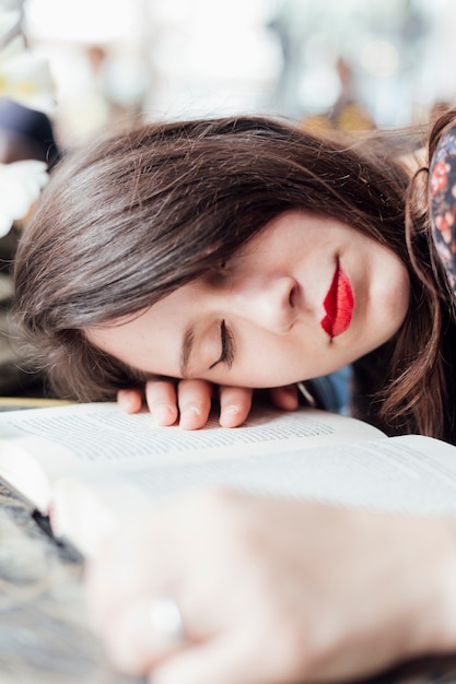
[{"label": "sleeping woman with long brown hair, including both hands", "polygon": [[[157,421],[178,408],[190,428],[213,386],[237,425],[252,388],[292,408],[288,386],[352,364],[358,415],[456,441],[451,132],[435,151],[453,116],[430,138],[434,235],[425,169],[411,181],[390,143],[241,117],[144,126],[71,155],[17,255],[35,358],[62,396],[120,390],[135,411],[145,384]],[[456,647],[445,521],[217,493],[133,527],[89,591],[116,662],[154,682],[340,679]],[[184,645],[151,636],[162,593]]]}]

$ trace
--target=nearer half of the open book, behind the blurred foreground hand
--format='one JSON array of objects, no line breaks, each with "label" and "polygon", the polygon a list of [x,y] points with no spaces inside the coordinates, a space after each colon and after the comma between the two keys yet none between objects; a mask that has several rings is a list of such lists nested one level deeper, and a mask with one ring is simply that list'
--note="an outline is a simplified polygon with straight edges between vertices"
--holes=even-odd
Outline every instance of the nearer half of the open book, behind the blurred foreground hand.
[{"label": "nearer half of the open book, behind the blurred foreground hand", "polygon": [[91,555],[125,515],[204,486],[387,512],[456,514],[456,448],[409,436],[155,469],[133,462],[122,477],[57,483],[54,522]]}]

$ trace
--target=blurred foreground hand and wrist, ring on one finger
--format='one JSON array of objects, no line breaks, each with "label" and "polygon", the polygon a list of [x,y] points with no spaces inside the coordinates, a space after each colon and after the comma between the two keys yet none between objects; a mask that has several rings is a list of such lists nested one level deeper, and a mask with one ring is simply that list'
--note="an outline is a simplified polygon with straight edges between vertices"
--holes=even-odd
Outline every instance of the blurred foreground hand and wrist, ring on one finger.
[{"label": "blurred foreground hand and wrist, ring on one finger", "polygon": [[[154,684],[287,684],[454,650],[455,577],[440,521],[212,492],[117,530],[86,593],[121,670]],[[163,595],[182,611],[184,644],[152,627]]]}]

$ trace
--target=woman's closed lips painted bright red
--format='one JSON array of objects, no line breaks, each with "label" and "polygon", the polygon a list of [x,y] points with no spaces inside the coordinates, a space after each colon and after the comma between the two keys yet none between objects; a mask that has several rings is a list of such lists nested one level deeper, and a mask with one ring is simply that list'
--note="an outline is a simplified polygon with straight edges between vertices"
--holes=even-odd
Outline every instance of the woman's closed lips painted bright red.
[{"label": "woman's closed lips painted bright red", "polygon": [[350,326],[353,304],[350,281],[338,261],[331,285],[323,303],[326,316],[320,320],[321,328],[331,339],[342,334]]}]

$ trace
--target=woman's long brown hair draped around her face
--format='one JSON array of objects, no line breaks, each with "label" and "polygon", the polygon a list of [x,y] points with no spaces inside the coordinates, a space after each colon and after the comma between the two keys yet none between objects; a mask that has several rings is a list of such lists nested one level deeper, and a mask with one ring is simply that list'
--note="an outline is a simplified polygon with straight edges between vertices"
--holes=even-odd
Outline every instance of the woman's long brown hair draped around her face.
[{"label": "woman's long brown hair draped around her face", "polygon": [[425,207],[413,203],[423,194],[410,193],[396,156],[388,145],[325,141],[261,117],[143,125],[72,153],[16,257],[16,310],[36,364],[60,396],[113,399],[142,378],[91,345],[84,329],[153,305],[273,216],[301,209],[388,246],[410,274],[399,333],[364,364],[363,415],[453,439],[449,292]]}]

